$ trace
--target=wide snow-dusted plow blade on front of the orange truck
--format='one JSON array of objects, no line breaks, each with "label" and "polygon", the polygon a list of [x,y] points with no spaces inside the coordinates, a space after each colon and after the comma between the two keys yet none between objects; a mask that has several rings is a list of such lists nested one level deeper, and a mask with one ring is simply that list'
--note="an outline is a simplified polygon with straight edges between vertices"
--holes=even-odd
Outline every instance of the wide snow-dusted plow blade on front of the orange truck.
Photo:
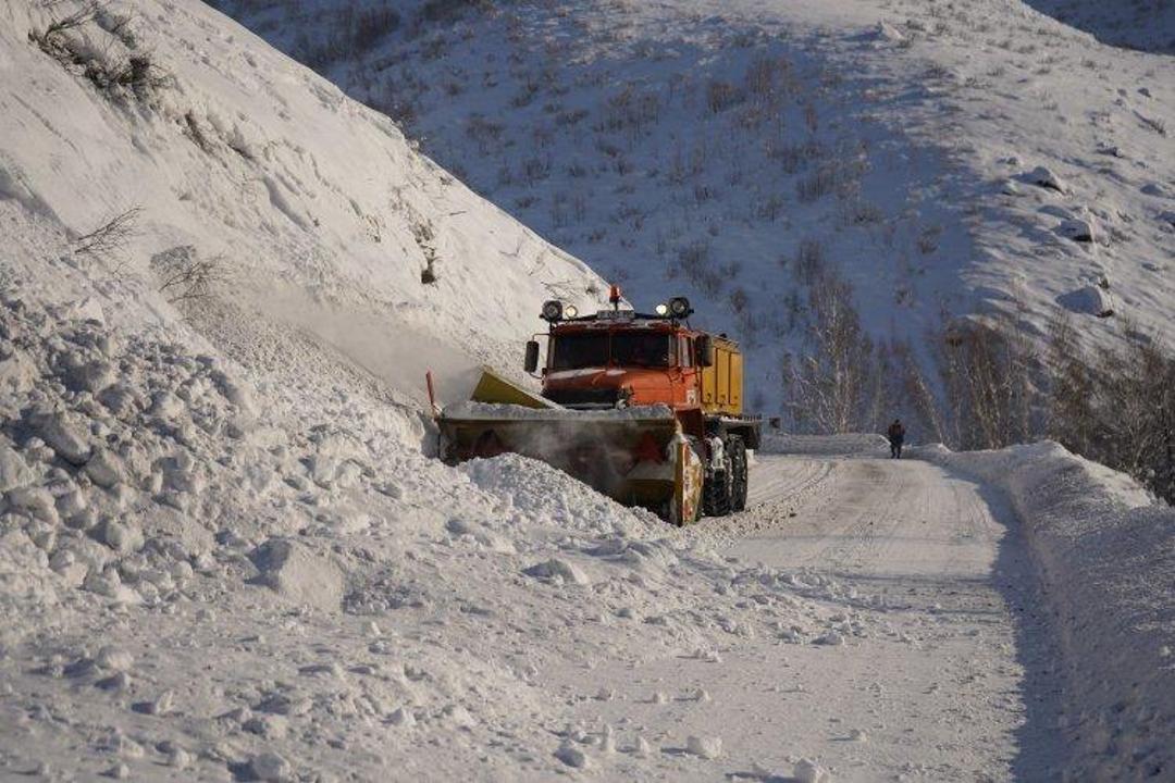
[{"label": "wide snow-dusted plow blade on front of the orange truck", "polygon": [[471,401],[446,407],[437,424],[441,455],[450,464],[512,452],[674,525],[698,517],[701,459],[667,407],[572,411]]}]

